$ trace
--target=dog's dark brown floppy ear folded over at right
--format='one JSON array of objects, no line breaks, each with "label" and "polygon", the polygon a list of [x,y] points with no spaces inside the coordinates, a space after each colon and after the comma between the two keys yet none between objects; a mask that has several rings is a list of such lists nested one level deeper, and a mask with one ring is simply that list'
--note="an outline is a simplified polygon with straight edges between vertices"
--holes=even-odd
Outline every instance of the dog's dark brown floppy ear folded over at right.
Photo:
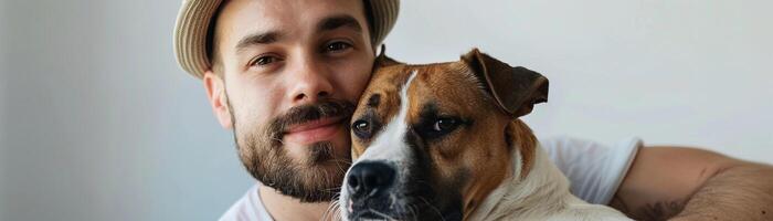
[{"label": "dog's dark brown floppy ear folded over at right", "polygon": [[522,66],[512,67],[473,49],[462,61],[494,96],[497,105],[513,118],[531,113],[534,104],[548,102],[548,78]]}]

